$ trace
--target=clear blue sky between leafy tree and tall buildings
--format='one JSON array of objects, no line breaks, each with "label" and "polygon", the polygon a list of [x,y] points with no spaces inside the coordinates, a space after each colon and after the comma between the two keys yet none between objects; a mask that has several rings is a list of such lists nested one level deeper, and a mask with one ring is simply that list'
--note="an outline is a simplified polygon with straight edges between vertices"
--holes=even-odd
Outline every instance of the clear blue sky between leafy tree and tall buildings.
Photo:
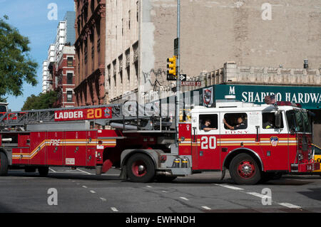
[{"label": "clear blue sky between leafy tree and tall buildings", "polygon": [[[57,6],[57,19],[53,19],[53,4]],[[24,83],[24,95],[8,96],[7,102],[12,111],[21,110],[27,97],[41,93],[42,63],[48,56],[49,45],[56,38],[58,22],[63,20],[67,11],[74,11],[73,0],[0,0],[0,17],[9,16],[6,22],[29,38],[29,56],[38,63],[38,85],[33,87]]]}]

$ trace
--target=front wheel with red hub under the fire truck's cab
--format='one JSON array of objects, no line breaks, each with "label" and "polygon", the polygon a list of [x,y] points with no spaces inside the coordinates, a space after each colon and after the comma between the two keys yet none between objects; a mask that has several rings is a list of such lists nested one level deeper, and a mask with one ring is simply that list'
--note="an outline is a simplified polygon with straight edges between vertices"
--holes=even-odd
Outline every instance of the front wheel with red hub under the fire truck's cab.
[{"label": "front wheel with red hub under the fire truck's cab", "polygon": [[258,184],[261,171],[258,163],[249,154],[238,154],[230,162],[230,176],[236,184]]}]

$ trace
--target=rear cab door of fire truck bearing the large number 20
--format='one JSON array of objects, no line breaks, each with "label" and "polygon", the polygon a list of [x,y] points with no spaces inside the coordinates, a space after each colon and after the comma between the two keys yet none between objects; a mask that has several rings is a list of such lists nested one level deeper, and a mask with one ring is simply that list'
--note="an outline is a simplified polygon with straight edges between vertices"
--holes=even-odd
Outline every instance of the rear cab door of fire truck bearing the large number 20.
[{"label": "rear cab door of fire truck bearing the large number 20", "polygon": [[219,114],[199,114],[192,122],[193,169],[220,169]]}]

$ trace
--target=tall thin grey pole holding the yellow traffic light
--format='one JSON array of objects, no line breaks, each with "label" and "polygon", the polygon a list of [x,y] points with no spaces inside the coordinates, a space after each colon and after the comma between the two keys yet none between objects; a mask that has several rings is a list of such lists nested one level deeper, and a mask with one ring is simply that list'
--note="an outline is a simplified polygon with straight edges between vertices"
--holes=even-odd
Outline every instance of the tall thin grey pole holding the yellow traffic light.
[{"label": "tall thin grey pole holding the yellow traffic light", "polygon": [[176,147],[178,148],[178,123],[180,122],[180,0],[177,0],[177,38],[178,38],[178,53],[176,60]]}]

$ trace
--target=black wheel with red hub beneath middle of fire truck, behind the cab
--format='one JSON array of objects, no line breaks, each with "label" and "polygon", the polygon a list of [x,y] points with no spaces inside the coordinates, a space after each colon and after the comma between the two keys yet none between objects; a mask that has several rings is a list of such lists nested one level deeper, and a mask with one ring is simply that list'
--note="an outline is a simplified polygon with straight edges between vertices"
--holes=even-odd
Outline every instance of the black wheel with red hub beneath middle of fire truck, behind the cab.
[{"label": "black wheel with red hub beneath middle of fire truck, behind the cab", "polygon": [[153,160],[146,154],[133,154],[128,159],[126,168],[127,176],[133,182],[147,183],[155,177]]}]

